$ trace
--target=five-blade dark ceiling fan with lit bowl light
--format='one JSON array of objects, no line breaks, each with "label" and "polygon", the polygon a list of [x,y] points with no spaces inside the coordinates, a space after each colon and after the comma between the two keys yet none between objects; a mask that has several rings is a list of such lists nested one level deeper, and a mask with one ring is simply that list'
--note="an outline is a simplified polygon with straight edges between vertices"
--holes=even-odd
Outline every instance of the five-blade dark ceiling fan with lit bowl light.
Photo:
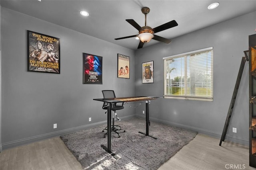
[{"label": "five-blade dark ceiling fan with lit bowl light", "polygon": [[160,25],[160,26],[152,29],[151,27],[147,26],[147,14],[150,12],[150,9],[148,7],[143,7],[141,9],[141,11],[143,14],[145,14],[145,26],[141,27],[138,23],[136,23],[132,19],[126,20],[128,23],[130,23],[134,28],[136,28],[139,31],[139,34],[138,35],[130,35],[127,37],[115,38],[115,40],[126,39],[126,38],[131,38],[131,37],[139,37],[140,43],[138,45],[138,49],[142,48],[144,43],[148,43],[151,39],[154,39],[156,41],[161,41],[166,44],[171,43],[172,40],[166,39],[164,37],[160,37],[153,33],[158,33],[160,31],[164,31],[166,29],[176,27],[178,25],[178,23],[175,20],[172,20],[170,22],[164,23],[163,25]]}]

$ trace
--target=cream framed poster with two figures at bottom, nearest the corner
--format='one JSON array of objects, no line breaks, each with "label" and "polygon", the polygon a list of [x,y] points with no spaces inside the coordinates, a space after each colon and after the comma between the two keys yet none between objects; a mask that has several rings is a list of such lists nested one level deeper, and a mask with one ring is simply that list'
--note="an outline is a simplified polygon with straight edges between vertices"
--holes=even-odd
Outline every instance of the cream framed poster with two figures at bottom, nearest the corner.
[{"label": "cream framed poster with two figures at bottom, nearest the corner", "polygon": [[117,54],[117,77],[130,78],[130,57]]}]

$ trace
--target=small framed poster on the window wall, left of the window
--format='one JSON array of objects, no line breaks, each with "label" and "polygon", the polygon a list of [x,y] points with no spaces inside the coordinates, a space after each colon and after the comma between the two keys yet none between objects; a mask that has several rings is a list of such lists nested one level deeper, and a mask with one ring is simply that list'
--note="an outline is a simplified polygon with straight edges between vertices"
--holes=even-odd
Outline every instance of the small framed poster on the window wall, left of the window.
[{"label": "small framed poster on the window wall, left of the window", "polygon": [[142,63],[142,83],[154,82],[154,61]]}]

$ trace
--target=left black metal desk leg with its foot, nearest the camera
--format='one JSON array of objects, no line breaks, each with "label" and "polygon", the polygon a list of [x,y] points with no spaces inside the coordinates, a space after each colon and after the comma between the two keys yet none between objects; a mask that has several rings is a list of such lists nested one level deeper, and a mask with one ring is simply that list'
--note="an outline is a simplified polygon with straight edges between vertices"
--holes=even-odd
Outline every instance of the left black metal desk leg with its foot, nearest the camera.
[{"label": "left black metal desk leg with its foot, nearest the camera", "polygon": [[104,150],[106,150],[109,154],[111,154],[114,158],[120,159],[116,154],[111,151],[111,110],[112,110],[112,103],[108,103],[108,147],[104,145],[100,145]]}]

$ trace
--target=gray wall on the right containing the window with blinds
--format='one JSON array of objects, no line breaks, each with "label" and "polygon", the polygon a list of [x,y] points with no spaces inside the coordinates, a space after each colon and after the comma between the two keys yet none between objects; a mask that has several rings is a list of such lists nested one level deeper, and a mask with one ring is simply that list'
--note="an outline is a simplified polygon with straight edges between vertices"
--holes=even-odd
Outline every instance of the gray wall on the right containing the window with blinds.
[{"label": "gray wall on the right containing the window with blinds", "polygon": [[[179,23],[179,21],[177,21]],[[136,95],[163,96],[163,57],[213,47],[213,102],[195,100],[152,100],[151,120],[176,125],[220,138],[231,102],[238,70],[248,50],[248,35],[255,34],[256,12],[136,51]],[[189,28],[188,28],[189,29]],[[153,40],[152,40],[153,41]],[[154,61],[154,83],[142,84],[142,64]],[[249,66],[246,62],[226,139],[248,145]],[[136,108],[143,117],[144,107]],[[232,133],[232,127],[237,133]],[[164,133],[164,132],[163,132]]]}]

